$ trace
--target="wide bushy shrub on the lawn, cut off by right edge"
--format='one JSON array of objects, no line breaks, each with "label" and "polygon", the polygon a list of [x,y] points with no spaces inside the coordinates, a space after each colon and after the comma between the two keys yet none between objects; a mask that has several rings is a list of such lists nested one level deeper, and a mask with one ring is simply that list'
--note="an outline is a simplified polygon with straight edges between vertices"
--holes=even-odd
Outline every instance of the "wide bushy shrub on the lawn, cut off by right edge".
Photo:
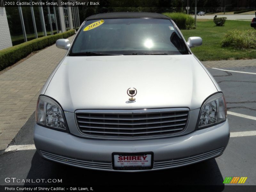
[{"label": "wide bushy shrub on the lawn, cut off by right edge", "polygon": [[256,30],[228,31],[221,41],[222,47],[237,49],[256,49]]}]

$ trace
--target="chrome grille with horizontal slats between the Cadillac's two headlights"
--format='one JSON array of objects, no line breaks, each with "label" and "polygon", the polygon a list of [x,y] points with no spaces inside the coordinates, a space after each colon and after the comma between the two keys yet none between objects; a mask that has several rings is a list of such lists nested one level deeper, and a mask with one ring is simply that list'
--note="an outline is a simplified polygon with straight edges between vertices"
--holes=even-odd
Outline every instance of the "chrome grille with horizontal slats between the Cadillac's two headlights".
[{"label": "chrome grille with horizontal slats between the Cadillac's two headlights", "polygon": [[78,110],[76,123],[87,136],[136,139],[183,132],[188,115],[188,108]]}]

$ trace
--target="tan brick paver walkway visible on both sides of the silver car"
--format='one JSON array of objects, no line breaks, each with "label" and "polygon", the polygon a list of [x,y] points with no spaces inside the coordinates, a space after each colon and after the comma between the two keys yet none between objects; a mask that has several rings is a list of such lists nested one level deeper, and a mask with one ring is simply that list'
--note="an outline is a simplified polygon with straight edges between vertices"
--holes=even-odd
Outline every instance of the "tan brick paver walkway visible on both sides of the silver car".
[{"label": "tan brick paver walkway visible on both sides of the silver car", "polygon": [[[65,53],[54,44],[0,75],[0,150],[7,148],[34,113],[42,86]],[[202,63],[207,68],[244,67],[256,66],[256,59]]]}]

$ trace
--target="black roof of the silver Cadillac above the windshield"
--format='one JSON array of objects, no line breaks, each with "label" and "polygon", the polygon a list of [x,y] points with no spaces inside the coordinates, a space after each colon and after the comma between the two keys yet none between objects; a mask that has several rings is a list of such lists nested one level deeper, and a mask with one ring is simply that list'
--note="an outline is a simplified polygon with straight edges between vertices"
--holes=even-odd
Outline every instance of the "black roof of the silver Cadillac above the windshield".
[{"label": "black roof of the silver Cadillac above the windshield", "polygon": [[160,13],[149,12],[112,12],[112,13],[100,13],[87,17],[85,20],[96,19],[120,19],[120,18],[154,18],[154,19],[170,19],[166,15]]}]

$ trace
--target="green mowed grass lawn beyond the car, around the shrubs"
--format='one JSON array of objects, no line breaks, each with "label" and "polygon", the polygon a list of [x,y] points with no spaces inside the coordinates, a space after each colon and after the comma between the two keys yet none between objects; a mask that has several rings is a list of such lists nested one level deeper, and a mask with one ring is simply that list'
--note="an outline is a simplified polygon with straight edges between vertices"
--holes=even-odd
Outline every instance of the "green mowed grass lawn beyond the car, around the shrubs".
[{"label": "green mowed grass lawn beyond the car, around the shrubs", "polygon": [[213,20],[197,21],[196,29],[181,30],[187,40],[190,36],[200,36],[203,44],[199,47],[191,48],[191,51],[201,61],[209,60],[234,60],[234,59],[255,59],[256,50],[238,50],[228,47],[220,47],[220,42],[228,30],[250,29],[250,21],[226,20],[225,26],[215,27]]}]

